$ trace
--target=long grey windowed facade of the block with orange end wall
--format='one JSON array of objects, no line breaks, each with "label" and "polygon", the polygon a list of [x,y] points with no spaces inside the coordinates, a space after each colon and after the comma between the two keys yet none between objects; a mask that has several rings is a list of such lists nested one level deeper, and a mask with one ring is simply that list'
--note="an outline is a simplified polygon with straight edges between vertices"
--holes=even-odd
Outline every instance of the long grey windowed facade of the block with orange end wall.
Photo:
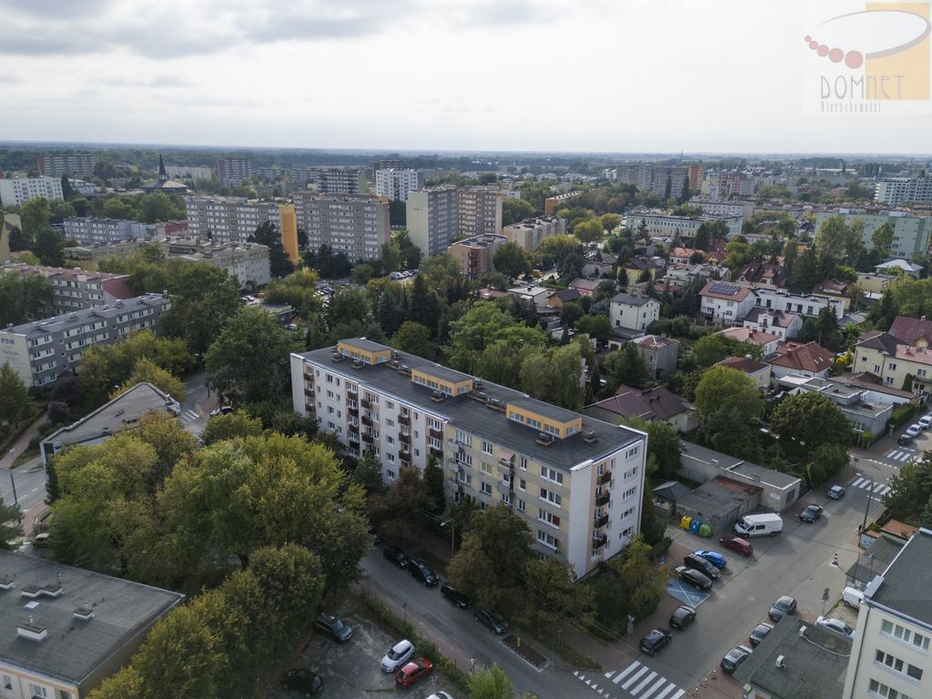
[{"label": "long grey windowed facade of the block with orange end wall", "polygon": [[281,213],[274,201],[236,197],[185,197],[187,232],[214,242],[246,242],[261,224],[281,230]]}]

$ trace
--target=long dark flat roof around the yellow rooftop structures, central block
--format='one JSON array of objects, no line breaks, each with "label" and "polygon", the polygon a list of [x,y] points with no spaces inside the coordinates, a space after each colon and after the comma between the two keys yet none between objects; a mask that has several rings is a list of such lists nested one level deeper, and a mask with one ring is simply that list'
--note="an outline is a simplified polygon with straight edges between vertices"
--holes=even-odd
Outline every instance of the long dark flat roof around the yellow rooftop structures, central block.
[{"label": "long dark flat roof around the yellow rooftop structures, central block", "polygon": [[[377,345],[377,343],[373,344]],[[377,345],[377,347],[383,346]],[[391,395],[399,402],[417,405],[421,412],[445,419],[454,428],[459,427],[466,432],[486,437],[516,453],[530,459],[541,460],[557,468],[569,470],[587,459],[601,459],[626,445],[633,445],[643,439],[640,432],[535,400],[521,391],[514,391],[514,389],[482,379],[479,379],[482,385],[478,389],[459,396],[447,396],[443,402],[434,403],[431,400],[433,393],[431,389],[412,382],[410,376],[395,370],[389,363],[364,365],[362,368],[353,369],[349,362],[331,361],[331,355],[335,349],[334,347],[314,349],[298,353],[296,356],[318,363],[331,373],[359,383],[363,389],[371,387],[375,391]],[[436,371],[439,367],[439,364],[414,354],[398,352],[398,355],[397,362],[411,369]],[[454,371],[446,367],[441,368]],[[466,374],[455,373],[462,377],[469,377]],[[480,393],[484,395],[482,400]],[[581,432],[566,439],[555,438],[550,445],[540,445],[536,442],[540,431],[508,419],[502,410],[490,407],[491,401],[499,402],[502,409],[506,403],[521,404],[528,410],[561,421],[582,418],[583,428]],[[593,432],[596,437],[595,441],[586,442],[583,439],[583,432],[588,431]]]}]

